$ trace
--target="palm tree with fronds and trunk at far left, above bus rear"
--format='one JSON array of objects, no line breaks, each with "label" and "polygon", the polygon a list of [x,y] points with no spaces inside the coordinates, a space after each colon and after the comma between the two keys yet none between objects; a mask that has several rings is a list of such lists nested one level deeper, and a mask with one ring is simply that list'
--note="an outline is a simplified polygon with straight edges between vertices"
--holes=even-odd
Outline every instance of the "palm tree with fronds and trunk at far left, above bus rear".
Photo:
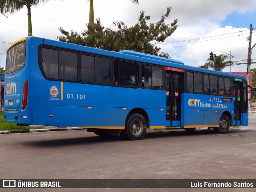
[{"label": "palm tree with fronds and trunk at far left, above bus rear", "polygon": [[26,6],[28,9],[28,36],[32,36],[31,6],[45,2],[47,0],[0,0],[0,12],[13,14]]}]

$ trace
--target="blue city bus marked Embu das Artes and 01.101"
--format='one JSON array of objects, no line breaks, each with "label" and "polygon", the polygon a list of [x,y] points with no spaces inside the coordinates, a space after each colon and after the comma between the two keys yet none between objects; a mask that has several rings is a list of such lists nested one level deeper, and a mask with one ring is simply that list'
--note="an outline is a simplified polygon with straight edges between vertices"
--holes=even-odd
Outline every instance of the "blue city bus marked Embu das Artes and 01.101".
[{"label": "blue city bus marked Embu das Artes and 01.101", "polygon": [[7,50],[4,121],[140,140],[147,129],[248,125],[246,77],[38,37]]}]

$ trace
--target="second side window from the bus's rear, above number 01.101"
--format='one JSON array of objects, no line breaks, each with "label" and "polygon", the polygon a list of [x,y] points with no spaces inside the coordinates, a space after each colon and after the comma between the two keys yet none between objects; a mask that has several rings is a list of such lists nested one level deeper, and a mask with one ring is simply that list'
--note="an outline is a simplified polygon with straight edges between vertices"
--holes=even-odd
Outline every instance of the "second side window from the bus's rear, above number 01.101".
[{"label": "second side window from the bus's rear, above number 01.101", "polygon": [[59,51],[59,65],[61,67],[60,79],[68,81],[77,80],[77,57],[76,53]]}]

